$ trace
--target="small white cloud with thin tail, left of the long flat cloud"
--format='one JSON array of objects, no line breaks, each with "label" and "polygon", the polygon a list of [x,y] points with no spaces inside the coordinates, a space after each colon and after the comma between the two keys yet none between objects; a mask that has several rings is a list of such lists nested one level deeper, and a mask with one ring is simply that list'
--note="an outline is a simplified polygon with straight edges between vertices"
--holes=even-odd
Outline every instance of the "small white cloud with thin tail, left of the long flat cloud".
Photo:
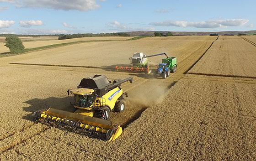
[{"label": "small white cloud with thin tail, left of the long flat cloud", "polygon": [[107,27],[112,29],[112,32],[120,32],[120,31],[154,31],[154,27],[142,27],[142,28],[134,28],[129,27],[125,24],[122,24],[118,21],[108,22],[106,24]]}]

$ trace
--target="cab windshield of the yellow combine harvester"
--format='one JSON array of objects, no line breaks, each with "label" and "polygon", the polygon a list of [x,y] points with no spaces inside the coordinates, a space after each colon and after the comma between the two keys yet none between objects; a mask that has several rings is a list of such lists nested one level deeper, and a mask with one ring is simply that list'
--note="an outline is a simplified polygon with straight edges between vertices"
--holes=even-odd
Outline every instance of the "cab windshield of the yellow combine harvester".
[{"label": "cab windshield of the yellow combine harvester", "polygon": [[94,102],[93,95],[75,94],[75,105],[79,107],[90,107]]}]

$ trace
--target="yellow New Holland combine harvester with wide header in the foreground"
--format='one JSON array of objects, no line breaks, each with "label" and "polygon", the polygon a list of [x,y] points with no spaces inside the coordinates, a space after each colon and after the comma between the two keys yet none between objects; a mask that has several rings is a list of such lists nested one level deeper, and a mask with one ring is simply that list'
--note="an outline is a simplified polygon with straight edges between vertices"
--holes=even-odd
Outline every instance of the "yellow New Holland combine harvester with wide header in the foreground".
[{"label": "yellow New Holland combine harvester with wide header in the foreground", "polygon": [[123,89],[120,85],[124,82],[133,82],[129,77],[123,80],[109,81],[104,75],[94,75],[83,78],[77,89],[69,89],[74,94],[75,113],[59,110],[44,109],[34,112],[33,120],[47,124],[60,125],[61,128],[74,130],[83,134],[95,134],[98,138],[115,140],[123,129],[119,125],[112,125],[110,112],[122,112],[125,108]]}]

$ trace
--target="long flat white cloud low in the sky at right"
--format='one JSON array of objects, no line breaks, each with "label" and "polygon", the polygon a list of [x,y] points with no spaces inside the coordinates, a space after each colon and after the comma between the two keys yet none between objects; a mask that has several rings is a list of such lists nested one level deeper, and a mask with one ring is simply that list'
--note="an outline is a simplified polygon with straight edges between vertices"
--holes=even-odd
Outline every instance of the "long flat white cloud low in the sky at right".
[{"label": "long flat white cloud low in the sky at right", "polygon": [[196,27],[196,28],[223,28],[228,26],[243,26],[249,20],[246,19],[227,19],[227,20],[213,20],[201,22],[188,22],[188,21],[163,21],[151,22],[153,26],[177,26],[177,27]]}]

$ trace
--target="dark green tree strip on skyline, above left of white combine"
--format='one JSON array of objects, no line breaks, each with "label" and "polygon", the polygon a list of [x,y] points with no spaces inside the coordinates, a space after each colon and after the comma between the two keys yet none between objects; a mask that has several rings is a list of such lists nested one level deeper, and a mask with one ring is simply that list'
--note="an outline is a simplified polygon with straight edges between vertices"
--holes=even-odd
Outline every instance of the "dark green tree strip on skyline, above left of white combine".
[{"label": "dark green tree strip on skyline, above left of white combine", "polygon": [[116,32],[116,33],[99,33],[99,34],[61,34],[59,35],[59,40],[72,39],[79,37],[98,37],[98,36],[130,36],[128,33]]}]

